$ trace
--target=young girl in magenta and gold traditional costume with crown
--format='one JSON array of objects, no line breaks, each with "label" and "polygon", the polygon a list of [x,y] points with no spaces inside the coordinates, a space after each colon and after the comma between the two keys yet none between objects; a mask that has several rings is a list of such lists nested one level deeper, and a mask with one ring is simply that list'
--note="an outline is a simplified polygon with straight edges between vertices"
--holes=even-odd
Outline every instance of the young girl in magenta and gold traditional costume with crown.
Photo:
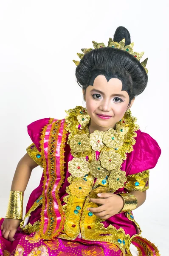
[{"label": "young girl in magenta and gold traditional costume with crown", "polygon": [[[28,125],[33,143],[17,165],[0,220],[1,256],[131,256],[131,243],[140,256],[159,256],[132,214],[146,200],[149,169],[161,154],[130,112],[148,81],[147,59],[140,62],[144,52],[133,51],[124,27],[107,47],[93,45],[74,61],[86,108]],[[38,165],[42,178],[22,219],[23,192]]]}]

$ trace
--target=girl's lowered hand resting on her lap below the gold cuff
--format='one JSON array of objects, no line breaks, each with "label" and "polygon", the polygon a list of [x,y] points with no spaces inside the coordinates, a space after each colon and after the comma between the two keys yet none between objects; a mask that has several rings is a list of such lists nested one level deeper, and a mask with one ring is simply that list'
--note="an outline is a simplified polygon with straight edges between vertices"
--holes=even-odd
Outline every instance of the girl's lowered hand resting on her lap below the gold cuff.
[{"label": "girl's lowered hand resting on her lap below the gold cuff", "polygon": [[3,224],[0,227],[3,237],[13,242],[15,240],[14,235],[20,225],[20,222],[21,220],[5,218]]}]

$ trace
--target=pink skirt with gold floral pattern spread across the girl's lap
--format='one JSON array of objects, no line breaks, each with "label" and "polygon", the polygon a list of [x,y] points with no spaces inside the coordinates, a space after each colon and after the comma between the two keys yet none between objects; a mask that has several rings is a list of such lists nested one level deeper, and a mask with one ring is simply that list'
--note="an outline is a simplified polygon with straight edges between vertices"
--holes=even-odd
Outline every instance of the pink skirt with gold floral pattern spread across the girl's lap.
[{"label": "pink skirt with gold floral pattern spread across the girl's lap", "polygon": [[[3,219],[0,221],[0,226]],[[2,237],[0,230],[0,256],[122,256],[121,250],[114,244],[99,241],[69,241],[40,239],[39,233],[27,235],[20,230],[10,242]]]}]

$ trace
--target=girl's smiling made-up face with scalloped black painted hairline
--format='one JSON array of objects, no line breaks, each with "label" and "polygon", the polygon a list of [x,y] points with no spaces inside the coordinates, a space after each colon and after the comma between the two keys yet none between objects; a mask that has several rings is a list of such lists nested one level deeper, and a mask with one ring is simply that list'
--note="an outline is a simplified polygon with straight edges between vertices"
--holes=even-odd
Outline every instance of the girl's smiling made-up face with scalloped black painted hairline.
[{"label": "girl's smiling made-up face with scalloped black painted hairline", "polygon": [[129,95],[121,90],[121,80],[112,78],[107,82],[103,75],[97,76],[93,86],[87,87],[85,101],[87,113],[91,118],[90,133],[115,128],[115,123],[124,116],[127,109],[131,108],[134,99],[129,107]]}]

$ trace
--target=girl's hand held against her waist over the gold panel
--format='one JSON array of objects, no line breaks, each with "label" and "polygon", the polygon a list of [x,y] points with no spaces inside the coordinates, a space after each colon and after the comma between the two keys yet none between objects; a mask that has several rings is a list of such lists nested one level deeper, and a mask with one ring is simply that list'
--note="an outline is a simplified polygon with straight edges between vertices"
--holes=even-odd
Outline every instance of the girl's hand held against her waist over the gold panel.
[{"label": "girl's hand held against her waist over the gold panel", "polygon": [[124,200],[120,195],[113,193],[101,193],[97,195],[100,198],[90,198],[90,202],[102,205],[96,208],[87,208],[87,210],[93,212],[94,215],[103,220],[117,214],[124,207]]}]

